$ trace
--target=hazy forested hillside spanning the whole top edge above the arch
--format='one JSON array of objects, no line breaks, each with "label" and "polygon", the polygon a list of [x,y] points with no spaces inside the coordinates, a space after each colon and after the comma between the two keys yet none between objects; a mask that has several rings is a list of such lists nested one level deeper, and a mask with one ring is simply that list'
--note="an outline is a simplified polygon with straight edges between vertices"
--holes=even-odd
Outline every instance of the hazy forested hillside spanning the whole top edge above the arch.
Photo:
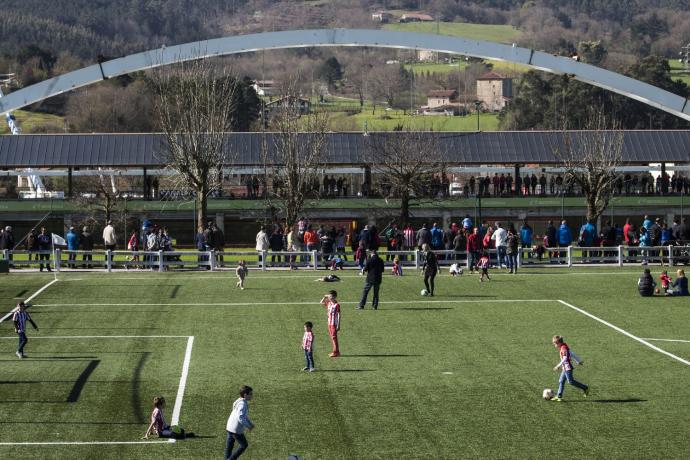
[{"label": "hazy forested hillside spanning the whole top edge above the arch", "polygon": [[[30,44],[55,56],[66,52],[92,61],[98,54],[117,56],[232,33],[373,27],[370,14],[381,8],[551,35],[562,28],[562,35],[582,34],[585,40],[630,34],[646,41],[646,51],[666,35],[682,41],[687,37],[676,32],[690,29],[690,0],[22,0],[3,2],[0,55],[13,57]],[[557,51],[550,49],[557,46],[550,38],[539,48]]]}]

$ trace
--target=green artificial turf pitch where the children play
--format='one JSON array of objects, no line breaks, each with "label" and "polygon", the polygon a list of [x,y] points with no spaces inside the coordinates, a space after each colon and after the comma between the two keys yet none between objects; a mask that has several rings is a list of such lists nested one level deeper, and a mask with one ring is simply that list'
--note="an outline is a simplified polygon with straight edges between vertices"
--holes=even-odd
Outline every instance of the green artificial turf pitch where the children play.
[{"label": "green artificial turf pitch where the children play", "polygon": [[[355,311],[354,271],[329,284],[314,282],[324,271],[252,271],[244,291],[227,272],[61,273],[29,309],[40,331],[28,358],[0,325],[0,458],[218,458],[241,384],[255,389],[247,459],[686,458],[688,366],[556,301],[637,337],[690,339],[687,298],[640,298],[638,272],[492,270],[485,283],[443,272],[431,298],[412,269],[387,271],[379,311]],[[0,275],[4,310],[51,279]],[[342,302],[337,359],[318,304],[329,289]],[[314,373],[301,372],[308,320]],[[567,387],[561,403],[541,399],[557,386],[553,334],[585,360],[575,377],[589,398]],[[51,338],[70,336],[81,338]],[[153,396],[172,418],[188,336],[181,424],[198,438],[2,444],[138,441]],[[650,343],[690,359],[690,343]]]}]

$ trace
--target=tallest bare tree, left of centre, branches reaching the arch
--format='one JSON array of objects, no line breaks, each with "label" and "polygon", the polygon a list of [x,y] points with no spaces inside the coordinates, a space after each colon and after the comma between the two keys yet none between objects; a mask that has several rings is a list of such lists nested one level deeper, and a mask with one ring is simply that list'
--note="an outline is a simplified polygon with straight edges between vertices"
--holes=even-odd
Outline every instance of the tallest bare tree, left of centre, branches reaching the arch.
[{"label": "tallest bare tree, left of centre, branches reaching the arch", "polygon": [[164,161],[180,178],[176,188],[195,194],[197,226],[204,226],[208,197],[222,186],[232,163],[225,136],[235,114],[237,79],[209,60],[183,62],[152,77],[156,113],[164,132]]}]

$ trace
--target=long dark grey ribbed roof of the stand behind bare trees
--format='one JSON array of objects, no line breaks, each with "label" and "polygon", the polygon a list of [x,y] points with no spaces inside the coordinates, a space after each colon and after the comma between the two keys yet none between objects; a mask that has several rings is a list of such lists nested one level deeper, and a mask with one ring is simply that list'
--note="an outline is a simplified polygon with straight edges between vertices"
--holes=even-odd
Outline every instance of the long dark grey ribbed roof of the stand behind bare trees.
[{"label": "long dark grey ribbed roof of the stand behind bare trees", "polygon": [[[276,133],[232,133],[225,149],[236,166],[263,165],[262,146],[275,158]],[[307,137],[313,134],[301,133]],[[408,133],[329,133],[324,163],[362,165],[372,161],[368,145],[372,136],[406,136]],[[430,132],[445,152],[448,164],[558,164],[553,151],[563,145],[557,131]],[[577,138],[586,132],[572,132]],[[263,136],[267,139],[264,140]],[[0,165],[28,167],[160,167],[165,164],[166,141],[162,134],[22,134],[0,136]],[[623,162],[689,163],[690,130],[624,131]]]}]

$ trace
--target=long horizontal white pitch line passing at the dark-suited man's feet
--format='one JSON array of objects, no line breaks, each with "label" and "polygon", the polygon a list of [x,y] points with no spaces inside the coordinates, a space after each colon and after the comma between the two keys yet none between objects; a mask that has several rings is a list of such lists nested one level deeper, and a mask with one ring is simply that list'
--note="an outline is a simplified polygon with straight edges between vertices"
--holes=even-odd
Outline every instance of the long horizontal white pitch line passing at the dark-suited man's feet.
[{"label": "long horizontal white pitch line passing at the dark-suited man's feet", "polygon": [[[553,299],[460,299],[460,300],[387,300],[379,302],[379,305],[387,304],[438,304],[438,303],[517,303],[517,302],[555,302]],[[310,305],[318,304],[318,301],[305,300],[303,302],[221,302],[221,303],[44,303],[35,304],[35,307],[235,307],[247,305]],[[359,302],[340,302],[341,305],[356,305]],[[187,337],[187,336],[185,336]]]}]

